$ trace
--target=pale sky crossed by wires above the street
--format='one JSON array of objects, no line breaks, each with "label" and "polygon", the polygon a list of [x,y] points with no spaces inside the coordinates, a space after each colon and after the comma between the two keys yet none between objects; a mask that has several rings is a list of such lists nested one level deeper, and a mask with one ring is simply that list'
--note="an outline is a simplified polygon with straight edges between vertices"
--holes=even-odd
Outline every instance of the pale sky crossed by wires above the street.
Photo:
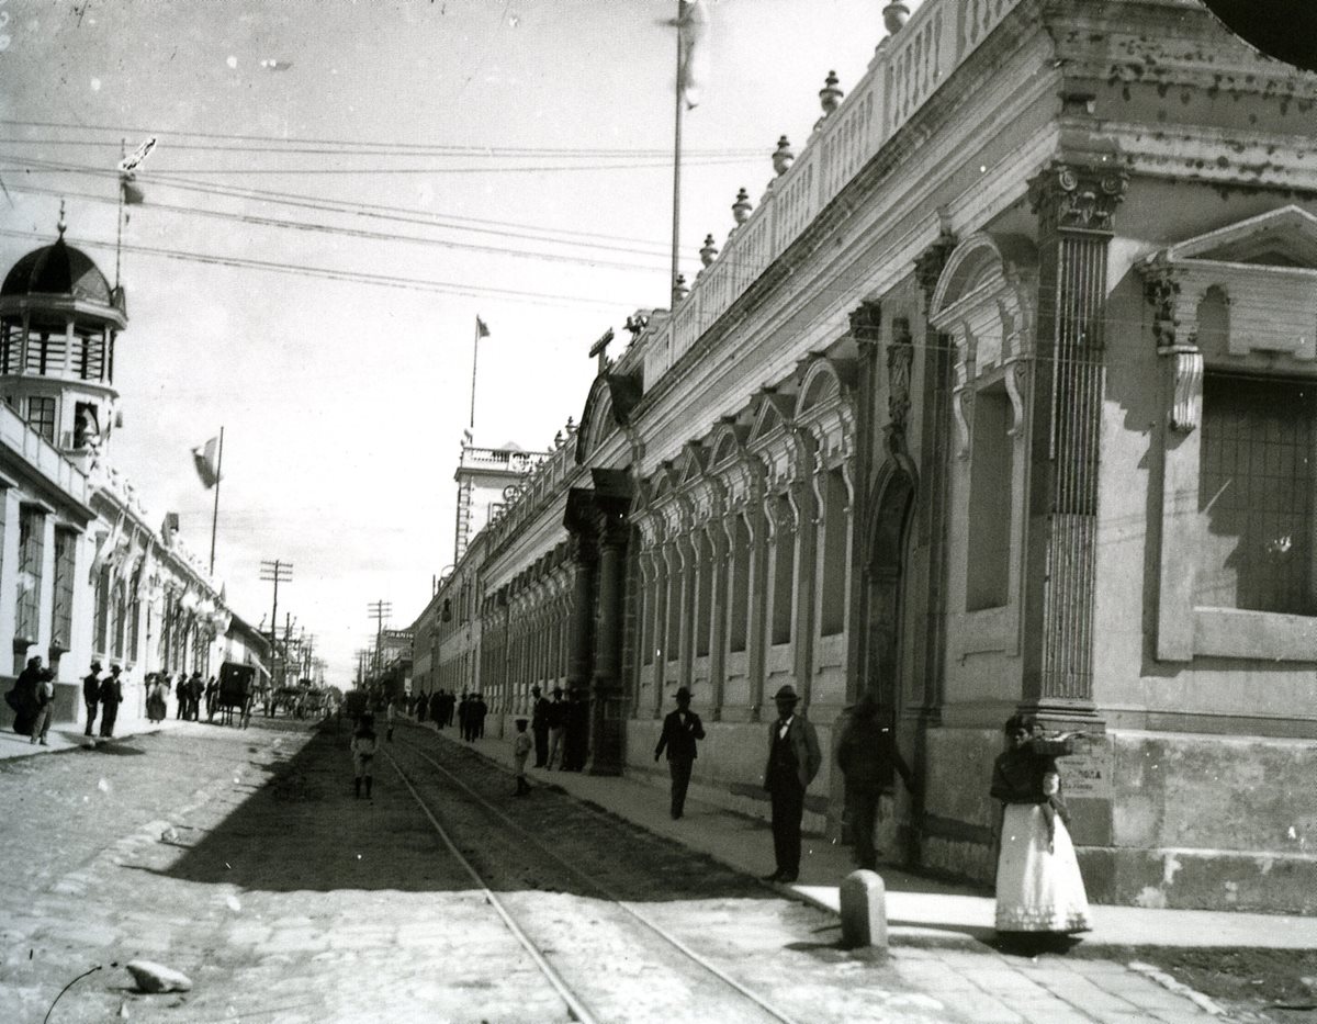
[{"label": "pale sky crossed by wires above the street", "polygon": [[[911,8],[918,4],[910,4]],[[798,153],[880,0],[718,0],[684,118],[681,269]],[[548,450],[593,342],[668,304],[676,0],[0,0],[0,265],[55,237],[113,283],[109,461],[208,555],[191,449],[224,428],[216,578],[346,684],[369,605],[412,624],[453,561],[462,430]],[[8,17],[5,17],[8,16]],[[386,283],[387,282],[387,283]],[[619,342],[620,345],[620,342]]]}]

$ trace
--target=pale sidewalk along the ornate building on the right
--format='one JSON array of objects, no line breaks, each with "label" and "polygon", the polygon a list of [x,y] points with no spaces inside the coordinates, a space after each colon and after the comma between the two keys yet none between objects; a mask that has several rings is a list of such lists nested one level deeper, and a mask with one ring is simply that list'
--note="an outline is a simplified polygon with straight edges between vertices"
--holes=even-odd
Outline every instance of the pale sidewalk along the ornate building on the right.
[{"label": "pale sidewalk along the ornate building on the right", "polygon": [[[433,727],[423,727],[433,730]],[[456,729],[440,738],[461,742]],[[482,755],[511,771],[506,740],[477,740]],[[673,821],[668,813],[668,775],[605,777],[579,771],[532,769],[532,786],[553,784],[572,796],[589,800],[649,832],[699,850],[716,861],[752,875],[773,867],[773,838],[766,821],[745,817],[712,803],[686,799],[686,813]],[[694,790],[693,790],[694,792]],[[855,870],[849,848],[819,836],[805,836],[801,881],[784,886],[799,898],[838,911],[838,883]],[[888,891],[888,927],[893,944],[910,938],[985,940],[993,931],[993,898],[982,890],[947,884],[880,866]],[[1177,911],[1144,907],[1094,906],[1093,931],[1084,946],[1252,946],[1264,949],[1317,949],[1317,919],[1230,911]]]}]

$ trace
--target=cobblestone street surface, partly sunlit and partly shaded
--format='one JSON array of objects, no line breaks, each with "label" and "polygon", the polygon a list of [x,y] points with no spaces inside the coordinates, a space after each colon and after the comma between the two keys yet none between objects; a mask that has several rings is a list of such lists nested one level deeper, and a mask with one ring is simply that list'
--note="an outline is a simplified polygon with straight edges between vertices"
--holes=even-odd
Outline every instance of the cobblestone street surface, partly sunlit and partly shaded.
[{"label": "cobblestone street surface, partly sunlit and partly shaded", "polygon": [[[402,777],[601,1020],[765,1020],[673,970],[601,882],[785,1020],[1179,1021],[1198,1006],[1118,963],[903,942],[839,948],[836,919],[557,787],[507,799],[474,750],[410,727],[373,800],[352,796],[346,732],[258,720],[175,725],[4,762],[4,990],[14,1021],[553,1021],[568,1011],[445,849]],[[427,759],[428,758],[428,759]],[[456,771],[456,783],[437,774]],[[436,774],[427,777],[427,771]],[[461,799],[458,799],[461,796]],[[477,799],[497,802],[495,834]],[[187,974],[138,992],[122,965]],[[99,970],[95,970],[97,969]],[[80,977],[92,971],[87,977]],[[61,996],[65,986],[71,987]],[[744,1000],[743,1000],[744,1002]],[[1083,1010],[1080,1008],[1083,1007]]]}]

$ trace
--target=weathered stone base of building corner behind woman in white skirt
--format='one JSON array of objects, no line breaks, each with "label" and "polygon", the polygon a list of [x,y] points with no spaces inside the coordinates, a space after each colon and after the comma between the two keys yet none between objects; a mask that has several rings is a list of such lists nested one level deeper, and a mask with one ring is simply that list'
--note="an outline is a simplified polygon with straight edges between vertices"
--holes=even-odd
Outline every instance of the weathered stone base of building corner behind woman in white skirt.
[{"label": "weathered stone base of building corner behind woman in white skirt", "polygon": [[[928,733],[922,867],[993,883],[996,808],[986,790],[1000,742],[986,730]],[[1064,758],[1071,834],[1089,899],[1317,912],[1310,758],[1305,740],[1137,730],[1108,732]]]}]

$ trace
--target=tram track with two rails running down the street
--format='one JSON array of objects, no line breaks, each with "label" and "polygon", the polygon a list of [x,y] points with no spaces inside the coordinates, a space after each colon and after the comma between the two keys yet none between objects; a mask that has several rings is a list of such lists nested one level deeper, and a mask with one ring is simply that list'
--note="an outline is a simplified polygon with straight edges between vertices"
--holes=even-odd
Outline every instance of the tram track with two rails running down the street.
[{"label": "tram track with two rails running down the street", "polygon": [[[715,1012],[716,1017],[727,1024],[765,1020],[797,1024],[797,1019],[790,1013],[741,985],[669,928],[639,909],[633,902],[619,895],[599,878],[599,873],[587,873],[551,849],[537,834],[477,792],[420,745],[402,740],[391,746],[406,750],[408,762],[415,758],[424,766],[423,770],[435,773],[443,781],[445,806],[440,808],[436,807],[437,802],[427,795],[427,790],[433,791],[435,787],[427,787],[417,778],[415,766],[408,763],[404,767],[387,748],[383,750],[440,841],[562,999],[572,1020],[595,1024],[623,1019],[619,1016],[619,998],[630,996],[635,1004],[626,1012],[624,1019],[641,1019],[647,1013],[656,1020],[673,1019],[670,1016],[673,1012],[680,1012],[682,1008],[689,1011],[690,1002],[697,1000],[702,1015]],[[473,816],[474,823],[470,820]],[[475,825],[473,834],[479,836],[479,846],[466,844],[465,852],[464,837],[453,834],[462,827],[460,823],[462,817],[468,819],[465,828],[471,829]],[[491,828],[491,823],[497,824]],[[494,846],[503,849],[498,852]],[[489,863],[485,863],[482,870],[475,861],[489,861]],[[589,957],[579,956],[570,948],[572,944],[557,941],[552,928],[545,929],[543,908],[536,904],[549,899],[553,890],[502,895],[497,891],[499,886],[490,878],[491,874],[515,875],[519,870],[525,873],[527,865],[541,867],[552,865],[558,878],[570,879],[573,891],[581,898],[591,899],[586,894],[594,894],[595,902],[578,907],[576,913],[587,915],[590,927],[603,934],[605,941],[620,958],[631,962],[624,978],[611,979],[614,986],[619,981],[623,982],[626,994],[616,988],[610,991],[608,985],[601,981],[602,965],[598,960],[579,962],[587,961]],[[533,869],[531,871],[533,873]],[[586,952],[589,948],[587,942]],[[694,974],[691,966],[698,969]],[[666,1010],[655,1006],[656,1000],[664,999],[680,1002]]]}]

